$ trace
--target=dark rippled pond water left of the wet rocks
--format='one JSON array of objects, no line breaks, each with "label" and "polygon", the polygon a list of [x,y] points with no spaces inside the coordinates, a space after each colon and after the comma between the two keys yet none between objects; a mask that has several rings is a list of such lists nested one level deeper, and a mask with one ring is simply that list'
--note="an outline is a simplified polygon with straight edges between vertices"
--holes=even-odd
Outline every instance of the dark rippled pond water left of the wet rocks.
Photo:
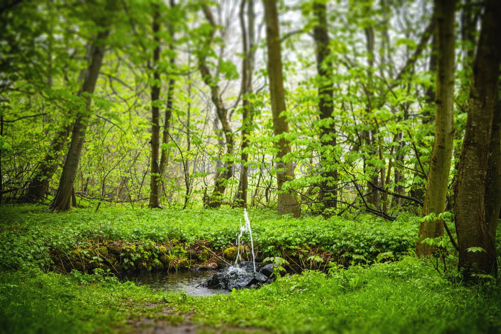
[{"label": "dark rippled pond water left of the wet rocks", "polygon": [[138,271],[117,274],[120,281],[132,281],[137,285],[148,285],[155,290],[183,291],[193,296],[209,296],[216,293],[227,294],[229,291],[196,287],[206,281],[217,270],[183,270],[183,271]]}]

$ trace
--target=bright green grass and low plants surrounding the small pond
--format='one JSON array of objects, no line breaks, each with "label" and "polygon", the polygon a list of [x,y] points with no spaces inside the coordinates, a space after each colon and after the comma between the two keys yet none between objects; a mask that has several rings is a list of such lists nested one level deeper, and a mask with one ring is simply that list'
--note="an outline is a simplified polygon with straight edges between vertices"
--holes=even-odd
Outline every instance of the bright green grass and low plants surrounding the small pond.
[{"label": "bright green grass and low plants surrounding the small pond", "polygon": [[[408,215],[387,223],[368,216],[291,220],[252,212],[257,243],[262,249],[273,247],[270,252],[306,245],[334,251],[348,244],[351,254],[394,250],[402,255],[372,265],[334,265],[328,273],[307,270],[261,289],[210,297],[154,292],[119,283],[112,275],[58,274],[47,271],[46,254],[98,237],[205,239],[223,248],[234,242],[241,216],[237,210],[52,214],[42,206],[23,205],[3,206],[0,216],[0,332],[501,331],[499,282],[451,283],[453,269],[439,274],[429,261],[403,255],[417,229],[416,218]],[[179,224],[181,232],[176,232]]]}]

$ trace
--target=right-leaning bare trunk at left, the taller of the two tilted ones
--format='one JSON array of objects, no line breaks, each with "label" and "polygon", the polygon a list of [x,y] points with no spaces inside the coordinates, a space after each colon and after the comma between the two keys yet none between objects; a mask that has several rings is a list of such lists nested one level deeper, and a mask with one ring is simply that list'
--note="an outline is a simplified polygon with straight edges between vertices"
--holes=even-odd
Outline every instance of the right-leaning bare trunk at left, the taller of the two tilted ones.
[{"label": "right-leaning bare trunk at left, the taller of the two tilted ones", "polygon": [[[96,42],[93,47],[91,63],[88,69],[87,78],[84,81],[81,92],[92,95],[96,88],[96,82],[99,77],[99,71],[103,64],[105,46],[104,40],[108,36],[108,31],[98,34]],[[73,183],[77,176],[78,164],[80,162],[80,155],[85,142],[85,130],[90,116],[91,98],[86,98],[87,112],[79,113],[75,125],[73,126],[73,134],[71,138],[70,147],[66,155],[65,163],[61,179],[59,180],[58,190],[52,202],[51,209],[54,211],[69,210],[71,208],[71,194]]]}]

